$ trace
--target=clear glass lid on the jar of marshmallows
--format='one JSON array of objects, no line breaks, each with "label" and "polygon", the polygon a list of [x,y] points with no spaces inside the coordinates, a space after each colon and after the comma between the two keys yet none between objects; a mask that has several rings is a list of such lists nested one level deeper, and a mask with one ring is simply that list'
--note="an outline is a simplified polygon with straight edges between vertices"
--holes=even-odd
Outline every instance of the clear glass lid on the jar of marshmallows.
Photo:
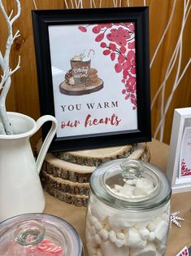
[{"label": "clear glass lid on the jar of marshmallows", "polygon": [[91,176],[90,187],[100,201],[117,209],[150,210],[171,197],[171,184],[162,170],[132,159],[98,166]]}]

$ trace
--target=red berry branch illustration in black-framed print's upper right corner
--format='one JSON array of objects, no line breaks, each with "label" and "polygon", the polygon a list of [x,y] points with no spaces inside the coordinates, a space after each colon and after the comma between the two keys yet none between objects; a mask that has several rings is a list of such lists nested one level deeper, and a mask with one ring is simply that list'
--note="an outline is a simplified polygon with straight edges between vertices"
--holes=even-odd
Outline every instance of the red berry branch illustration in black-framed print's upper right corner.
[{"label": "red berry branch illustration in black-framed print's upper right corner", "polygon": [[132,22],[115,24],[88,24],[79,26],[81,32],[87,32],[91,28],[97,34],[95,42],[100,42],[104,49],[103,55],[110,55],[111,61],[115,61],[115,72],[122,73],[121,82],[124,83],[122,94],[124,99],[129,99],[137,108],[136,89],[136,58],[135,58],[135,27]]}]

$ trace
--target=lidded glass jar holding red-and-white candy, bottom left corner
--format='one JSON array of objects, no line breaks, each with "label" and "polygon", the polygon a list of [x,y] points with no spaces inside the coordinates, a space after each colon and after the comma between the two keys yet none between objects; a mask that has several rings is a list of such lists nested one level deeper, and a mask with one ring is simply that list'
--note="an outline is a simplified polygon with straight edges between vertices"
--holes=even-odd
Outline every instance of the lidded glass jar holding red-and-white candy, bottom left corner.
[{"label": "lidded glass jar holding red-and-white candy, bottom left corner", "polygon": [[76,230],[49,214],[21,214],[0,223],[0,256],[81,256]]}]

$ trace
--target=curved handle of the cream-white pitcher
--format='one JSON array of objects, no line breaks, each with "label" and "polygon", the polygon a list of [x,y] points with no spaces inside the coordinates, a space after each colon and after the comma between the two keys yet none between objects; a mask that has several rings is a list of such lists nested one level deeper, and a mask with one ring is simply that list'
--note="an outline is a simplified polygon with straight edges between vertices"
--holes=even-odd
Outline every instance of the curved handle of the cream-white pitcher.
[{"label": "curved handle of the cream-white pitcher", "polygon": [[41,145],[41,150],[38,153],[37,156],[37,161],[36,161],[36,165],[37,165],[37,172],[38,174],[41,171],[41,166],[42,163],[46,157],[46,152],[49,149],[50,143],[52,142],[52,139],[54,138],[54,135],[56,133],[57,127],[58,127],[58,121],[56,120],[55,117],[50,116],[50,115],[45,115],[40,117],[37,120],[37,130],[39,130],[41,128],[41,126],[46,122],[46,121],[52,121],[52,126],[48,132],[48,134],[46,135],[46,139],[44,140],[44,142]]}]

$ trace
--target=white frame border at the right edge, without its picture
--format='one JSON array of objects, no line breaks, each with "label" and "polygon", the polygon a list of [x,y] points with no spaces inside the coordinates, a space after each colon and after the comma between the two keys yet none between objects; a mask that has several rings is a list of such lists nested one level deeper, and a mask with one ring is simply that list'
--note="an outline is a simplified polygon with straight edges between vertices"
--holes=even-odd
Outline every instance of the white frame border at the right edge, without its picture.
[{"label": "white frame border at the right edge, without its picture", "polygon": [[[188,118],[188,119],[187,119]],[[171,181],[172,193],[191,191],[191,177],[179,178],[180,147],[183,137],[185,119],[191,121],[191,108],[176,108],[171,129],[171,142],[167,161],[167,176]],[[189,122],[189,126],[191,123]]]}]

